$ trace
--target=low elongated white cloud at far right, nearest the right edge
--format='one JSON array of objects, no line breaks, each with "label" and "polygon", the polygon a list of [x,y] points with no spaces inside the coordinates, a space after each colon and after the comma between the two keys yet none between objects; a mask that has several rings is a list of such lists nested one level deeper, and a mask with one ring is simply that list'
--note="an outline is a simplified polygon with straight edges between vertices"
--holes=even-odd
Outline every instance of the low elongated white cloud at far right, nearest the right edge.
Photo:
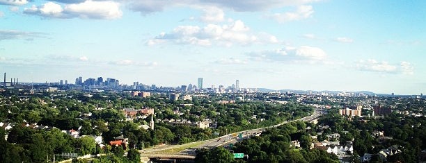
[{"label": "low elongated white cloud at far right, nearest the right edge", "polygon": [[377,61],[373,59],[358,60],[356,68],[361,71],[384,72],[389,74],[413,74],[413,66],[409,62],[400,62],[400,64],[390,64],[386,61]]}]

